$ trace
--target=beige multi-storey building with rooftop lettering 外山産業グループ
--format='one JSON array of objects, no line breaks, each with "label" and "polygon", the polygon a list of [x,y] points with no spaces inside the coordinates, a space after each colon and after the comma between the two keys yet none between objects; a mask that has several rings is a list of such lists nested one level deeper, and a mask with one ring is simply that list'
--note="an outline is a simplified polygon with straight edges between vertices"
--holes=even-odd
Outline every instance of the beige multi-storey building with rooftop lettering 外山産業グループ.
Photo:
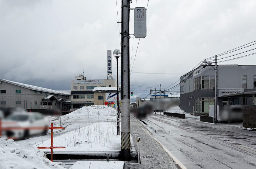
[{"label": "beige multi-storey building with rooftop lettering \u5916\u5c71\u7523\u696d\u30b0\u30eb\u30fc\u30d7", "polygon": [[103,100],[99,100],[98,95],[94,95],[93,89],[114,88],[116,86],[117,83],[114,79],[89,80],[83,75],[76,76],[76,79],[71,81],[71,109],[79,109],[94,104],[103,105]]}]

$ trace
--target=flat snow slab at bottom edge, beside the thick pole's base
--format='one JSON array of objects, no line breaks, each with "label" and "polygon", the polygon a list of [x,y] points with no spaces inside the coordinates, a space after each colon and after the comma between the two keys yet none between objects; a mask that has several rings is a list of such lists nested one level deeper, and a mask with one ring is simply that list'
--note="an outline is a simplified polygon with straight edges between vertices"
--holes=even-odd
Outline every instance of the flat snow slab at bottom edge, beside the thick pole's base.
[{"label": "flat snow slab at bottom edge, beside the thick pole's base", "polygon": [[123,161],[76,161],[70,169],[123,169]]}]

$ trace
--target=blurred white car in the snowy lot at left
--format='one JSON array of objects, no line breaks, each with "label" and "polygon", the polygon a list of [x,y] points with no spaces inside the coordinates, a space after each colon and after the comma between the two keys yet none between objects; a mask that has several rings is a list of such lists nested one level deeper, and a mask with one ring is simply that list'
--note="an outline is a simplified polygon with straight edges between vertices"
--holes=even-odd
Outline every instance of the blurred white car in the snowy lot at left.
[{"label": "blurred white car in the snowy lot at left", "polygon": [[[31,136],[40,136],[48,133],[50,121],[47,116],[38,112],[12,113],[2,120],[2,134],[14,140],[26,139]],[[15,129],[12,129],[15,127]],[[19,128],[20,129],[17,129]],[[42,127],[32,129],[33,127]]]}]

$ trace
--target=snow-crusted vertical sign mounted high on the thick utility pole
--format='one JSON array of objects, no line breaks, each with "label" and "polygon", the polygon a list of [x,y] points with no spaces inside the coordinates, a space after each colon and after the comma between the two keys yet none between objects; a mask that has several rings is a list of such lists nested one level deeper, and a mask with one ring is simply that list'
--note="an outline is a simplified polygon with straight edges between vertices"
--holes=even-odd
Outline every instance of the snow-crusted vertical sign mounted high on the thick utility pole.
[{"label": "snow-crusted vertical sign mounted high on the thick utility pole", "polygon": [[144,38],[147,36],[146,8],[136,7],[134,9],[134,36]]}]

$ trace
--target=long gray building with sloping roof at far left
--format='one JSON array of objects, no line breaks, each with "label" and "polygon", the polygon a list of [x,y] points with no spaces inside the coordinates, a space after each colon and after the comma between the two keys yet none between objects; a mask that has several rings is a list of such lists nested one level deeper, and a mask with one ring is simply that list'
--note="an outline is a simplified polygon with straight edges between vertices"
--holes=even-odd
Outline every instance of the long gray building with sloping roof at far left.
[{"label": "long gray building with sloping roof at far left", "polygon": [[28,111],[48,108],[69,111],[70,105],[71,91],[57,91],[0,79],[0,106],[23,107]]}]

